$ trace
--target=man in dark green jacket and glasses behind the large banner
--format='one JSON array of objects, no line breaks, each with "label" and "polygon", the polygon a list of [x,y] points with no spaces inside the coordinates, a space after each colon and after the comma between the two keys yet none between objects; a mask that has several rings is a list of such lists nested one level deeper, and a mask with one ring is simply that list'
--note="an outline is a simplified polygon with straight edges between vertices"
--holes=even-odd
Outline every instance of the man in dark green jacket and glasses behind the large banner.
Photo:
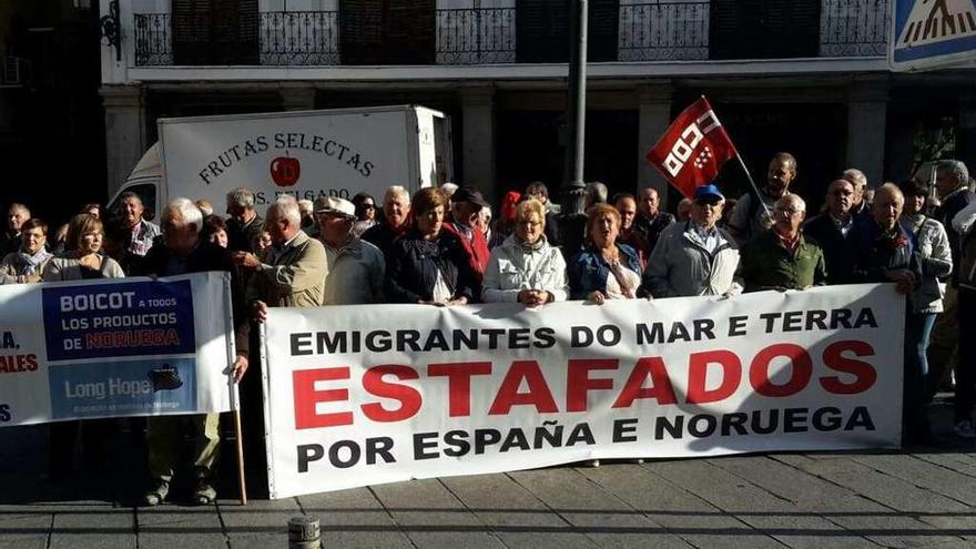
[{"label": "man in dark green jacket and glasses behind the large banner", "polygon": [[746,292],[805,289],[826,281],[823,251],[804,237],[806,203],[795,194],[776,201],[773,226],[742,248],[742,277]]}]

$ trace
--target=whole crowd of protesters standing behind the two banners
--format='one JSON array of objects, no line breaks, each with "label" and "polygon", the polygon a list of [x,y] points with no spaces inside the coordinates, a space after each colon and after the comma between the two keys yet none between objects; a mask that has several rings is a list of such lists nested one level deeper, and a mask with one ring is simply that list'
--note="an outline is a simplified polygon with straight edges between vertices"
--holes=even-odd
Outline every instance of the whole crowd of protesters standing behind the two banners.
[{"label": "whole crowd of protesters standing behind the two banners", "polygon": [[[602,183],[587,186],[584,216],[560,215],[546,185],[535,182],[505,193],[494,221],[479,191],[454,184],[413,196],[394,185],[382,202],[365,193],[314,202],[285,195],[264,212],[254,193],[237,189],[226,196],[226,217],[206,201],[177,199],[155,225],[139,196],[124,194],[111,215],[88,204],[49,238],[44,222],[12,204],[0,238],[0,283],[227,271],[237,348],[231,372],[241,380],[252,326],[268,307],[600,305],[891,282],[907,299],[904,440],[927,439],[925,406],[953,370],[955,434],[976,438],[976,197],[966,165],[938,162],[935,189],[917,179],[868,189],[861,171],[846,170],[830,182],[815,215],[791,192],[796,173],[796,160],[779,153],[759,192],[736,201],[702,185],[675,215],[662,211],[654,189],[608,197]],[[247,404],[260,410],[260,386],[243,393],[245,416]],[[195,440],[194,499],[215,498],[217,418],[160,417],[146,426],[145,504],[166,499],[184,429]],[[96,453],[104,426],[85,421],[83,430]],[[59,460],[71,455],[77,431],[78,423],[52,428],[61,446],[52,450],[52,470],[70,467]]]}]

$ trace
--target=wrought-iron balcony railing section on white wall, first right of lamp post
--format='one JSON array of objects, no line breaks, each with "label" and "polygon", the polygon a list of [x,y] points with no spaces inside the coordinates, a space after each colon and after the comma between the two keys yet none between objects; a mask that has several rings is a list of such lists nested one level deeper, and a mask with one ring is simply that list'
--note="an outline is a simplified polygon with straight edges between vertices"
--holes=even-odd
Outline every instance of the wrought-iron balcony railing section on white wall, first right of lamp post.
[{"label": "wrought-iron balcony railing section on white wall, first right of lamp post", "polygon": [[620,61],[709,59],[709,2],[621,3]]}]

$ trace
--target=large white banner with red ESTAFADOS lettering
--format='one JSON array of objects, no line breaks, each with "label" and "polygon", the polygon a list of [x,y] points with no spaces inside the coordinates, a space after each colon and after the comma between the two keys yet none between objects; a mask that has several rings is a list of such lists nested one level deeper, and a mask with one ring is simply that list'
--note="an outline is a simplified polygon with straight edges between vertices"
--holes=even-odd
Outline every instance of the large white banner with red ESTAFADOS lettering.
[{"label": "large white banner with red ESTAFADOS lettering", "polygon": [[894,286],[271,309],[273,498],[593,458],[894,447]]}]

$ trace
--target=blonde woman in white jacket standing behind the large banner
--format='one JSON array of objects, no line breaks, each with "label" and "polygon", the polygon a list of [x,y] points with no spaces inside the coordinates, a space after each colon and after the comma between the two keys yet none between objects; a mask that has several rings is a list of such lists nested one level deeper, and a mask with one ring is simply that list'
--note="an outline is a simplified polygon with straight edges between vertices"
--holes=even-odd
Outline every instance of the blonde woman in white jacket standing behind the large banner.
[{"label": "blonde woman in white jacket standing behind the large banner", "polygon": [[491,252],[481,289],[485,303],[538,307],[562,302],[569,293],[566,260],[546,241],[546,206],[527,200],[516,209],[515,231]]}]

